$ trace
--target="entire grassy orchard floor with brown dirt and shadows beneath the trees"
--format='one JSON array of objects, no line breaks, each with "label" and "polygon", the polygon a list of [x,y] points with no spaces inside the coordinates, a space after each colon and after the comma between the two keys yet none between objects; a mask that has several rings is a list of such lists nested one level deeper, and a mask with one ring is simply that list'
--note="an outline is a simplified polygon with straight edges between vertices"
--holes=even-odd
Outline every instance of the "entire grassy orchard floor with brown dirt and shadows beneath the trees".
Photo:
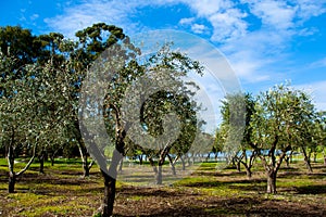
[{"label": "entire grassy orchard floor with brown dirt and shadows beneath the trees", "polygon": [[[46,164],[46,174],[40,175],[38,164],[33,164],[17,180],[16,193],[9,194],[8,168],[0,159],[0,216],[92,216],[101,204],[102,178],[98,168],[91,169],[89,178],[82,178],[80,166],[76,161],[60,159],[54,167]],[[162,187],[139,184],[152,178],[152,174],[139,171],[133,175],[136,179],[131,183],[118,182],[114,214],[326,216],[326,166],[317,163],[313,167],[313,174],[306,173],[302,162],[281,168],[276,195],[264,193],[266,182],[261,167],[253,169],[249,180],[246,173],[216,170],[215,163],[204,163],[188,178],[167,179],[168,184]],[[128,169],[133,168],[124,168],[125,175]]]}]

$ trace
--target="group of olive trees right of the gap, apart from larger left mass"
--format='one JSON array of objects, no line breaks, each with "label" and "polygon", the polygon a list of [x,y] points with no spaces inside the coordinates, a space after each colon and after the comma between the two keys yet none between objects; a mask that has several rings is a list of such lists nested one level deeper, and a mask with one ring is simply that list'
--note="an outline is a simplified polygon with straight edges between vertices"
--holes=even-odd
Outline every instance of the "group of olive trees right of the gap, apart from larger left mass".
[{"label": "group of olive trees right of the gap, apart from larger left mass", "polygon": [[[229,110],[238,112],[230,115]],[[238,169],[243,165],[249,178],[254,159],[259,158],[266,173],[268,193],[276,193],[277,171],[284,161],[289,166],[293,153],[303,154],[310,173],[312,153],[315,161],[317,152],[323,152],[326,164],[326,113],[315,108],[306,92],[289,84],[275,86],[255,98],[241,93],[227,95],[222,115],[215,149],[239,142],[240,149],[230,162]],[[235,140],[233,135],[239,129],[244,131],[243,137]]]}]

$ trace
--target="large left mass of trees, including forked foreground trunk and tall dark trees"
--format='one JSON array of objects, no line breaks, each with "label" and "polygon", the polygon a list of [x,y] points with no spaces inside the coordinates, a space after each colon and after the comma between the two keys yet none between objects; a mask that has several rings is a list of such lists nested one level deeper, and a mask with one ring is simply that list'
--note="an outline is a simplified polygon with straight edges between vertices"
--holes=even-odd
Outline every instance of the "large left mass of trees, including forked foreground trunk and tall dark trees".
[{"label": "large left mass of trees, including forked foreground trunk and tall dark trees", "polygon": [[[85,176],[93,165],[93,161],[88,159],[89,153],[100,166],[104,180],[101,210],[103,216],[111,216],[117,165],[123,156],[131,152],[146,154],[158,183],[162,183],[162,165],[166,157],[173,164],[189,150],[201,125],[196,116],[200,106],[191,100],[193,85],[184,82],[181,77],[190,72],[201,74],[202,67],[187,55],[172,51],[170,44],[139,60],[140,49],[123,29],[104,23],[79,30],[75,36],[77,40],[65,39],[58,33],[34,36],[20,26],[0,28],[0,146],[8,159],[9,192],[14,192],[17,177],[36,157],[42,173],[45,158],[50,157],[53,163],[59,152],[77,146]],[[110,77],[103,86],[97,87],[104,90],[102,106],[99,106],[98,95],[90,94],[92,90],[85,85],[93,78],[91,76],[98,75],[95,68],[100,68],[100,77],[103,74]],[[136,115],[140,120],[125,118],[123,110],[139,102],[129,97],[123,104],[121,99],[133,84],[148,81],[143,77],[166,87],[173,81],[175,86],[153,90],[149,95],[141,91],[148,89],[147,86],[137,88],[138,93],[133,93],[140,95],[140,116]],[[170,113],[174,119],[166,123]],[[96,131],[90,130],[91,127],[97,129],[97,124],[87,125],[91,117],[98,116],[104,119],[110,136],[106,141],[99,142]],[[176,119],[178,125],[174,126]],[[128,138],[127,131],[138,123],[141,127],[133,128],[134,131],[145,131],[152,143],[164,135],[163,142],[154,148],[143,146],[135,142],[135,138]],[[170,140],[168,132],[175,131],[171,130],[175,127],[181,133]],[[113,148],[109,167],[108,145]],[[171,153],[176,157],[171,157]],[[17,171],[15,159],[20,156],[29,161]]]}]

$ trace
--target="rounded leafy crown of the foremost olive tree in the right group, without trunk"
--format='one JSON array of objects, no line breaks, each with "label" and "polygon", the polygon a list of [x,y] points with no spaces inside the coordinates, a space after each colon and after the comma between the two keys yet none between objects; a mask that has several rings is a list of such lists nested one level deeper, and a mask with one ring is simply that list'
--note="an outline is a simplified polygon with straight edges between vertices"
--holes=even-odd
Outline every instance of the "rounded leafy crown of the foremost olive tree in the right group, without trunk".
[{"label": "rounded leafy crown of the foremost olive tree in the right group, without trunk", "polygon": [[[261,150],[287,152],[306,141],[315,113],[311,98],[289,86],[276,86],[258,97],[252,116],[253,143]],[[272,149],[271,149],[272,148]]]}]

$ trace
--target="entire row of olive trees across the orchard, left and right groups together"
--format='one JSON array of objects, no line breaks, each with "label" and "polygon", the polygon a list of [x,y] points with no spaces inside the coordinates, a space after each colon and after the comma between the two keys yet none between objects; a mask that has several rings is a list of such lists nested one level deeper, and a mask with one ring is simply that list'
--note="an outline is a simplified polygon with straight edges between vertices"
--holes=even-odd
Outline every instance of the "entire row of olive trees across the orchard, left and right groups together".
[{"label": "entire row of olive trees across the orchard, left and right groups together", "polygon": [[[111,216],[117,167],[124,156],[140,162],[146,156],[160,184],[165,161],[175,174],[178,161],[185,169],[186,161],[200,152],[196,144],[206,143],[215,153],[236,146],[229,162],[242,164],[248,176],[254,159],[261,158],[267,192],[275,193],[284,159],[300,149],[310,166],[310,153],[325,146],[325,114],[317,113],[302,91],[278,86],[256,98],[227,95],[222,106],[223,123],[214,137],[200,130],[204,122],[196,113],[202,107],[191,100],[198,87],[183,80],[190,72],[203,73],[197,61],[171,50],[170,44],[138,59],[141,50],[123,29],[104,23],[77,31],[76,38],[66,39],[58,33],[34,36],[18,26],[0,28],[0,149],[8,158],[9,192],[14,192],[16,178],[36,157],[43,173],[47,157],[53,164],[59,154],[78,150],[84,176],[95,163],[89,154],[96,156],[104,180],[101,210],[103,216]],[[96,90],[85,85],[98,79],[93,76],[105,75],[110,79]],[[146,84],[152,81],[161,84],[161,89],[150,92],[152,86]],[[129,90],[130,86],[135,88]],[[102,106],[99,90],[104,93]],[[133,107],[139,104],[136,116],[124,117],[126,111],[134,114]],[[166,122],[171,113],[172,122]],[[104,141],[97,135],[97,118],[104,119],[109,135]],[[133,137],[128,137],[130,132]],[[137,142],[138,136],[147,145]],[[108,145],[113,150],[109,167]],[[16,171],[18,156],[29,159]]]}]

